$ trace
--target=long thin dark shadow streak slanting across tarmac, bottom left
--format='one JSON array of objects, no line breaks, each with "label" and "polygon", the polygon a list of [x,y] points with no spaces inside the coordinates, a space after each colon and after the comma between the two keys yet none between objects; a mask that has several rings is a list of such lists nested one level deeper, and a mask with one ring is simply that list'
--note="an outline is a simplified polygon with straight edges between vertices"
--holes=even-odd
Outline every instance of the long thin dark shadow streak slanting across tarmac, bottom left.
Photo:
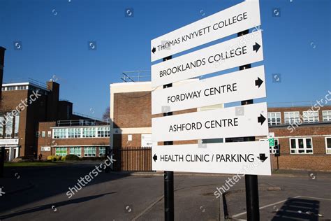
[{"label": "long thin dark shadow streak slanting across tarmac, bottom left", "polygon": [[114,194],[114,193],[116,193],[116,192],[108,192],[108,193],[105,193],[105,194],[99,194],[99,195],[94,195],[94,196],[89,196],[89,197],[82,197],[82,198],[78,198],[78,199],[70,199],[70,200],[67,200],[67,201],[61,201],[61,202],[54,203],[54,204],[46,204],[46,205],[43,205],[43,206],[36,206],[34,208],[28,208],[28,209],[25,209],[25,210],[22,210],[22,211],[17,211],[16,213],[10,213],[8,215],[2,215],[2,216],[0,216],[0,219],[13,218],[17,215],[23,215],[23,214],[27,214],[27,213],[34,213],[34,212],[38,212],[38,211],[49,210],[49,209],[52,209],[52,208],[59,208],[61,206],[66,206],[68,204],[78,204],[78,203],[82,203],[84,201],[89,201],[91,199],[97,199],[99,197],[103,197],[105,195]]}]

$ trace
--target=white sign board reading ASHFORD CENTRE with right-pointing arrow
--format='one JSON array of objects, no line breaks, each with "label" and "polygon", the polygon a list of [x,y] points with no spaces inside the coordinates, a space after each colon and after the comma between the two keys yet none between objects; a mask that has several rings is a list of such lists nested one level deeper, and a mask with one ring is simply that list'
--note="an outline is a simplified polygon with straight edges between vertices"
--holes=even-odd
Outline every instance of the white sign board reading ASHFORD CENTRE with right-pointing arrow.
[{"label": "white sign board reading ASHFORD CENTRE with right-pointing arrow", "polygon": [[152,118],[153,141],[267,136],[267,104]]}]

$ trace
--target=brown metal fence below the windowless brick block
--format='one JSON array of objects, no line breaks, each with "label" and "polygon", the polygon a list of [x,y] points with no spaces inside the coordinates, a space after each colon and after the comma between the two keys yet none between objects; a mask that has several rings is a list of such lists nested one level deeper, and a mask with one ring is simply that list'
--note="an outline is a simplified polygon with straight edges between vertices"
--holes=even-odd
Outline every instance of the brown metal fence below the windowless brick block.
[{"label": "brown metal fence below the windowless brick block", "polygon": [[122,147],[110,150],[114,171],[152,171],[152,148]]}]

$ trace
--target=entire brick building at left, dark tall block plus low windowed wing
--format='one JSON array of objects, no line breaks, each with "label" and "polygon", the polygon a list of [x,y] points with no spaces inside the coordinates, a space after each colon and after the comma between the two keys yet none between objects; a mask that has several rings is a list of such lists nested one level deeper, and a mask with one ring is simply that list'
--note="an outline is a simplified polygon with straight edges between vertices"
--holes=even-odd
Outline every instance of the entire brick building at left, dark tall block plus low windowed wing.
[{"label": "entire brick building at left, dark tall block plus low windowed wing", "polygon": [[52,80],[3,83],[5,50],[0,47],[0,146],[5,147],[6,161],[103,155],[109,146],[109,123],[73,113],[73,103],[59,99],[60,85]]}]

